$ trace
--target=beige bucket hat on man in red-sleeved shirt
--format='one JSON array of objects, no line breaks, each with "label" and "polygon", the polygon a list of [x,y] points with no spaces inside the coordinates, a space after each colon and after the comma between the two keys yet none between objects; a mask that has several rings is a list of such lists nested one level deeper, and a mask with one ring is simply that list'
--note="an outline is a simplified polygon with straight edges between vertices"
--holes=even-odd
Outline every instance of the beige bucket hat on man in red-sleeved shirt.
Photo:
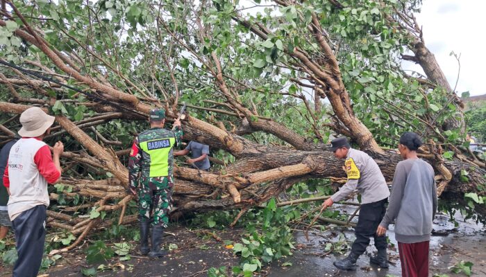
[{"label": "beige bucket hat on man in red-sleeved shirt", "polygon": [[19,135],[28,138],[42,136],[51,125],[53,125],[54,116],[49,116],[40,107],[31,107],[26,109],[20,115],[22,128],[19,129]]}]

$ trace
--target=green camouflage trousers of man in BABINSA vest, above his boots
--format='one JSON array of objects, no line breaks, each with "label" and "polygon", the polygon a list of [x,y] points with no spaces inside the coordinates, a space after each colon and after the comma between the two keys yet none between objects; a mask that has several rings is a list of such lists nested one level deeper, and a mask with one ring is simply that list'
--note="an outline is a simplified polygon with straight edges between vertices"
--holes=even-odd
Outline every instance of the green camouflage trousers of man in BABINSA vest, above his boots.
[{"label": "green camouflage trousers of man in BABINSA vest, above his boots", "polygon": [[[167,228],[169,212],[172,210],[172,189],[174,185],[171,178],[165,181],[143,181],[138,190],[138,213],[140,220],[151,220],[152,226]],[[169,181],[170,179],[170,181]],[[154,184],[155,183],[155,184]],[[161,185],[165,186],[161,186]]]}]

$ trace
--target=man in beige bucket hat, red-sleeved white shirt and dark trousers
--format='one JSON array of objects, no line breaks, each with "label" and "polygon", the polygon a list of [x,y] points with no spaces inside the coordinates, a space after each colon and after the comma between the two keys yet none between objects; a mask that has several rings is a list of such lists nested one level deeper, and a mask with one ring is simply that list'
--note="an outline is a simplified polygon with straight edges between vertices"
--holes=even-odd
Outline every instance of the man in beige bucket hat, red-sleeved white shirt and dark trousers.
[{"label": "man in beige bucket hat, red-sleeved white shirt and dark trousers", "polygon": [[49,206],[47,184],[60,180],[59,157],[64,151],[60,141],[54,145],[53,157],[42,141],[49,134],[54,117],[39,107],[26,109],[20,116],[22,129],[12,145],[3,174],[3,186],[10,194],[8,215],[17,242],[19,258],[13,276],[37,276],[44,253],[46,209]]}]

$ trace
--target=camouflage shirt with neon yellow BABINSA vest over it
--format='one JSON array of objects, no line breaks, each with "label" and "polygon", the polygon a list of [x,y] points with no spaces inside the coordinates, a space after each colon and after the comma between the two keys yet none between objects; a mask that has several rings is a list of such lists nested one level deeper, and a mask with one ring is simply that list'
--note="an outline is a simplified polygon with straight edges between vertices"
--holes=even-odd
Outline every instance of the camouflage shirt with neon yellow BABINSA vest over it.
[{"label": "camouflage shirt with neon yellow BABINSA vest over it", "polygon": [[181,145],[182,136],[181,127],[174,131],[151,128],[140,133],[133,141],[128,159],[128,185],[135,189],[140,180],[145,180],[144,185],[151,183],[157,184],[158,189],[165,188],[172,179],[172,148]]}]

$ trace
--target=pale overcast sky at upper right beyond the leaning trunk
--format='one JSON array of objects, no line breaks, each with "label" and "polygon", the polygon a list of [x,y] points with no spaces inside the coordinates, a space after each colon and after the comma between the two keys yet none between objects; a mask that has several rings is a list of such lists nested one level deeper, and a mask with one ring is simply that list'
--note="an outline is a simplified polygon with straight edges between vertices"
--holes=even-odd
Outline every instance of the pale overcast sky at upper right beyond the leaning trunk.
[{"label": "pale overcast sky at upper right beyond the leaning trunk", "polygon": [[[482,0],[424,0],[416,15],[426,46],[434,53],[452,88],[458,79],[458,62],[449,53],[461,55],[456,89],[459,96],[464,91],[471,96],[486,93],[485,10],[486,1]],[[404,66],[423,72],[414,64]]]}]

